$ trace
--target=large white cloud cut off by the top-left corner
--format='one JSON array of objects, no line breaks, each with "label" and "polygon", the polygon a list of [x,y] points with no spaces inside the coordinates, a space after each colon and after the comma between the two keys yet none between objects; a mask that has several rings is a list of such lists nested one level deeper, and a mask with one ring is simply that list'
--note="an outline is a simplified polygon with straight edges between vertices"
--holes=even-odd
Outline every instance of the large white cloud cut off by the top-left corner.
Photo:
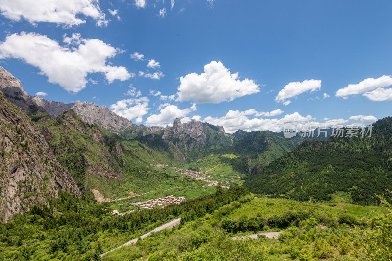
[{"label": "large white cloud cut off by the top-left corner", "polygon": [[52,22],[65,26],[83,24],[80,15],[91,17],[98,26],[107,25],[105,14],[98,0],[1,0],[1,14],[13,21],[25,19],[35,25],[37,22]]}]

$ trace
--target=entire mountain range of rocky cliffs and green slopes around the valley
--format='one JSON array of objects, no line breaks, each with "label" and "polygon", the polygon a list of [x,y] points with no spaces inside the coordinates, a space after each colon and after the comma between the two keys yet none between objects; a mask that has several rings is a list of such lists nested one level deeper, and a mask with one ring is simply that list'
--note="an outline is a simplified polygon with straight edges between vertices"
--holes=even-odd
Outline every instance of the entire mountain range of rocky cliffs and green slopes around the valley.
[{"label": "entire mountain range of rocky cliffs and green slopes around the valley", "polygon": [[2,67],[0,89],[2,221],[33,202],[48,204],[59,189],[109,200],[121,189],[158,186],[150,164],[193,166],[213,154],[233,155],[225,161],[249,190],[277,197],[331,200],[344,191],[355,203],[377,204],[374,194],[391,185],[390,118],[377,122],[371,139],[337,139],[332,129],[327,137],[316,129],[311,139],[286,139],[272,131],[229,134],[194,119],[136,125],[105,106],[30,96]]}]

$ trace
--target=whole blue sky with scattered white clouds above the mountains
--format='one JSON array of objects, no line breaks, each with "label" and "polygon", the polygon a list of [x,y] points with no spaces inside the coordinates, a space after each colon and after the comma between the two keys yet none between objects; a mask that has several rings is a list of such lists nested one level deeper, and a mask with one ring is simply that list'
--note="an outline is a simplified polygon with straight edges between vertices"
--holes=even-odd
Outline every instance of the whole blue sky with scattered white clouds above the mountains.
[{"label": "whole blue sky with scattered white clouds above the mountains", "polygon": [[363,125],[392,111],[391,7],[1,0],[0,65],[30,95],[94,102],[147,126]]}]

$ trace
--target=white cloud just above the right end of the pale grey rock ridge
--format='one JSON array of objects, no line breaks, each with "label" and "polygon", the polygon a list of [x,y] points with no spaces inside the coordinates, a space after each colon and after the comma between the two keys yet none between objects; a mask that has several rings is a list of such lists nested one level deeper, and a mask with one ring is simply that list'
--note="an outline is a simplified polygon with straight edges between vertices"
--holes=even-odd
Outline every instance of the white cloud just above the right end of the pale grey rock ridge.
[{"label": "white cloud just above the right end of the pale grey rock ridge", "polygon": [[135,119],[135,122],[140,123],[143,121],[143,116],[147,114],[148,110],[148,98],[141,97],[139,99],[124,99],[117,101],[112,104],[110,109],[129,120]]}]

